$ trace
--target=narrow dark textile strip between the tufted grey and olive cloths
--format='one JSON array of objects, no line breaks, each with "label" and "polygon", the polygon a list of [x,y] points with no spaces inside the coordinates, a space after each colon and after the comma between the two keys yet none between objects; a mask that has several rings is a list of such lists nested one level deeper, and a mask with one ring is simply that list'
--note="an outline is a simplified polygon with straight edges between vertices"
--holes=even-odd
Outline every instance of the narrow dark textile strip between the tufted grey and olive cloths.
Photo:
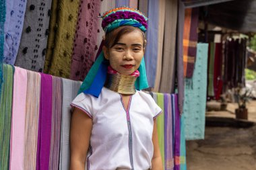
[{"label": "narrow dark textile strip between the tufted grey and olive cloths", "polygon": [[49,11],[51,17],[49,23],[46,56],[44,61],[44,73],[49,73],[51,62],[53,60],[53,50],[55,48],[55,30],[57,30],[58,1],[59,0],[52,0],[51,11]]}]

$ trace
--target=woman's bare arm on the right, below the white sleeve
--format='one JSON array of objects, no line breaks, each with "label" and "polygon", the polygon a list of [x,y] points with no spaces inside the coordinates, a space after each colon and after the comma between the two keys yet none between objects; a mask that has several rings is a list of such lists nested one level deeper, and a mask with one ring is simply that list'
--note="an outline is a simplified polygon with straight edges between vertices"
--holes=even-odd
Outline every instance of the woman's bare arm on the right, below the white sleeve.
[{"label": "woman's bare arm on the right, below the white sleeve", "polygon": [[151,161],[152,170],[163,170],[164,168],[162,167],[162,158],[161,158],[160,148],[158,144],[158,129],[156,125],[156,118],[154,119],[152,142],[154,145],[154,154]]}]

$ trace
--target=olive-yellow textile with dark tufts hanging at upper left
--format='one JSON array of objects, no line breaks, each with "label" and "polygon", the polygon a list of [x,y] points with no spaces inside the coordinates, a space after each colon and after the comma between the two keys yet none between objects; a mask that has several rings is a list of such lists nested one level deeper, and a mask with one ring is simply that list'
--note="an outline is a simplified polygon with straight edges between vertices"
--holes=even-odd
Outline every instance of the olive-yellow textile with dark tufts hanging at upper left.
[{"label": "olive-yellow textile with dark tufts hanging at upper left", "polygon": [[58,1],[57,29],[55,32],[55,48],[49,74],[57,77],[69,77],[73,39],[77,24],[79,0]]}]

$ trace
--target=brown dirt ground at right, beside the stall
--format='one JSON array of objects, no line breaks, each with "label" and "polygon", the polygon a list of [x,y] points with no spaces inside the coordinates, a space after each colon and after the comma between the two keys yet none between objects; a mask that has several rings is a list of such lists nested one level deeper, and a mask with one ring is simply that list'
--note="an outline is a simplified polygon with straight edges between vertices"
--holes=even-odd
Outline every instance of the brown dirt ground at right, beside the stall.
[{"label": "brown dirt ground at right, beside the stall", "polygon": [[[218,104],[210,105],[218,108]],[[249,121],[256,124],[256,101],[251,101],[247,107]],[[206,117],[234,118],[235,108],[236,103],[229,103],[228,112],[211,111]],[[256,125],[250,128],[206,127],[204,140],[187,141],[187,169],[256,170]]]}]

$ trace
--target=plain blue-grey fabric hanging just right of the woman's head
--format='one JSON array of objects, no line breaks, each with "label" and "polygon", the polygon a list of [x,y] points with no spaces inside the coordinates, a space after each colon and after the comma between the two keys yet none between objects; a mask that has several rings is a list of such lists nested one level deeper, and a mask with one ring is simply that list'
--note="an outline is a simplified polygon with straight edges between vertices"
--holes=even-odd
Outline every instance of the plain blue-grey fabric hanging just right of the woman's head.
[{"label": "plain blue-grey fabric hanging just right of the woman's head", "polygon": [[146,46],[145,62],[148,75],[148,85],[154,87],[156,79],[156,63],[158,58],[158,1],[148,2],[148,44]]}]

